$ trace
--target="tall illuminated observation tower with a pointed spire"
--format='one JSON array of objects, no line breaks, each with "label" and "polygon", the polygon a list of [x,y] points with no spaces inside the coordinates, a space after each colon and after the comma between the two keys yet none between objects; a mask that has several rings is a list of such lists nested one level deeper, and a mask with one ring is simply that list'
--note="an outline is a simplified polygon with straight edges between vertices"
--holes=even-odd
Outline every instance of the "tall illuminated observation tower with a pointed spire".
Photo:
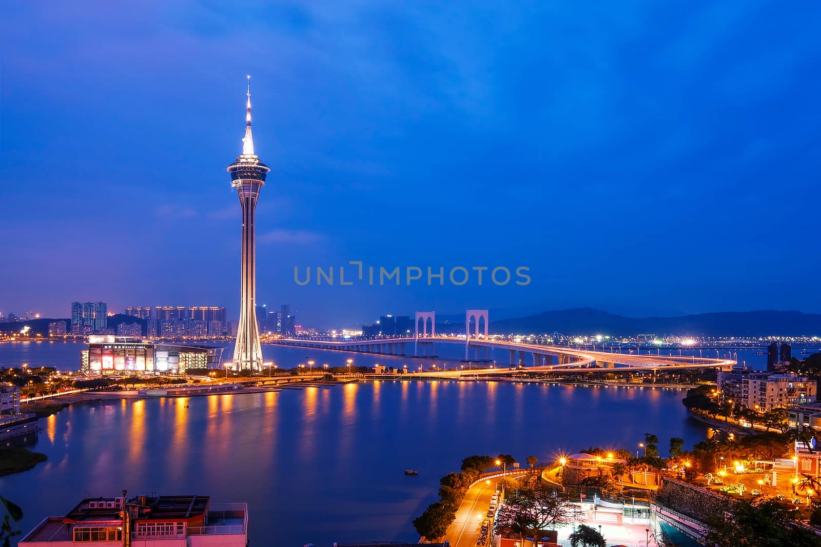
[{"label": "tall illuminated observation tower with a pointed spire", "polygon": [[245,104],[245,138],[242,153],[228,166],[231,185],[236,189],[242,207],[242,255],[240,322],[234,348],[236,370],[262,370],[262,347],[259,344],[259,324],[256,317],[256,243],[255,215],[259,192],[265,185],[265,176],[271,171],[254,153],[251,135],[251,86],[248,77],[247,102]]}]

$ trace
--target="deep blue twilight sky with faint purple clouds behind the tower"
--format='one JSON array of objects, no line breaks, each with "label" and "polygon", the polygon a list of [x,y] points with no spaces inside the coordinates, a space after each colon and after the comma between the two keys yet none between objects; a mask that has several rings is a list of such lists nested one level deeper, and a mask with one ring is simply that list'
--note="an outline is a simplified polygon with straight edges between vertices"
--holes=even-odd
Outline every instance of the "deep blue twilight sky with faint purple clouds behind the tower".
[{"label": "deep blue twilight sky with faint purple clouds behind the tower", "polygon": [[[754,0],[2,2],[0,311],[236,316],[225,167],[246,74],[272,169],[258,301],[290,301],[305,326],[818,311],[819,16]],[[446,283],[339,286],[351,260],[444,267]],[[296,285],[295,266],[334,266],[337,285]],[[531,282],[454,286],[457,266]]]}]

